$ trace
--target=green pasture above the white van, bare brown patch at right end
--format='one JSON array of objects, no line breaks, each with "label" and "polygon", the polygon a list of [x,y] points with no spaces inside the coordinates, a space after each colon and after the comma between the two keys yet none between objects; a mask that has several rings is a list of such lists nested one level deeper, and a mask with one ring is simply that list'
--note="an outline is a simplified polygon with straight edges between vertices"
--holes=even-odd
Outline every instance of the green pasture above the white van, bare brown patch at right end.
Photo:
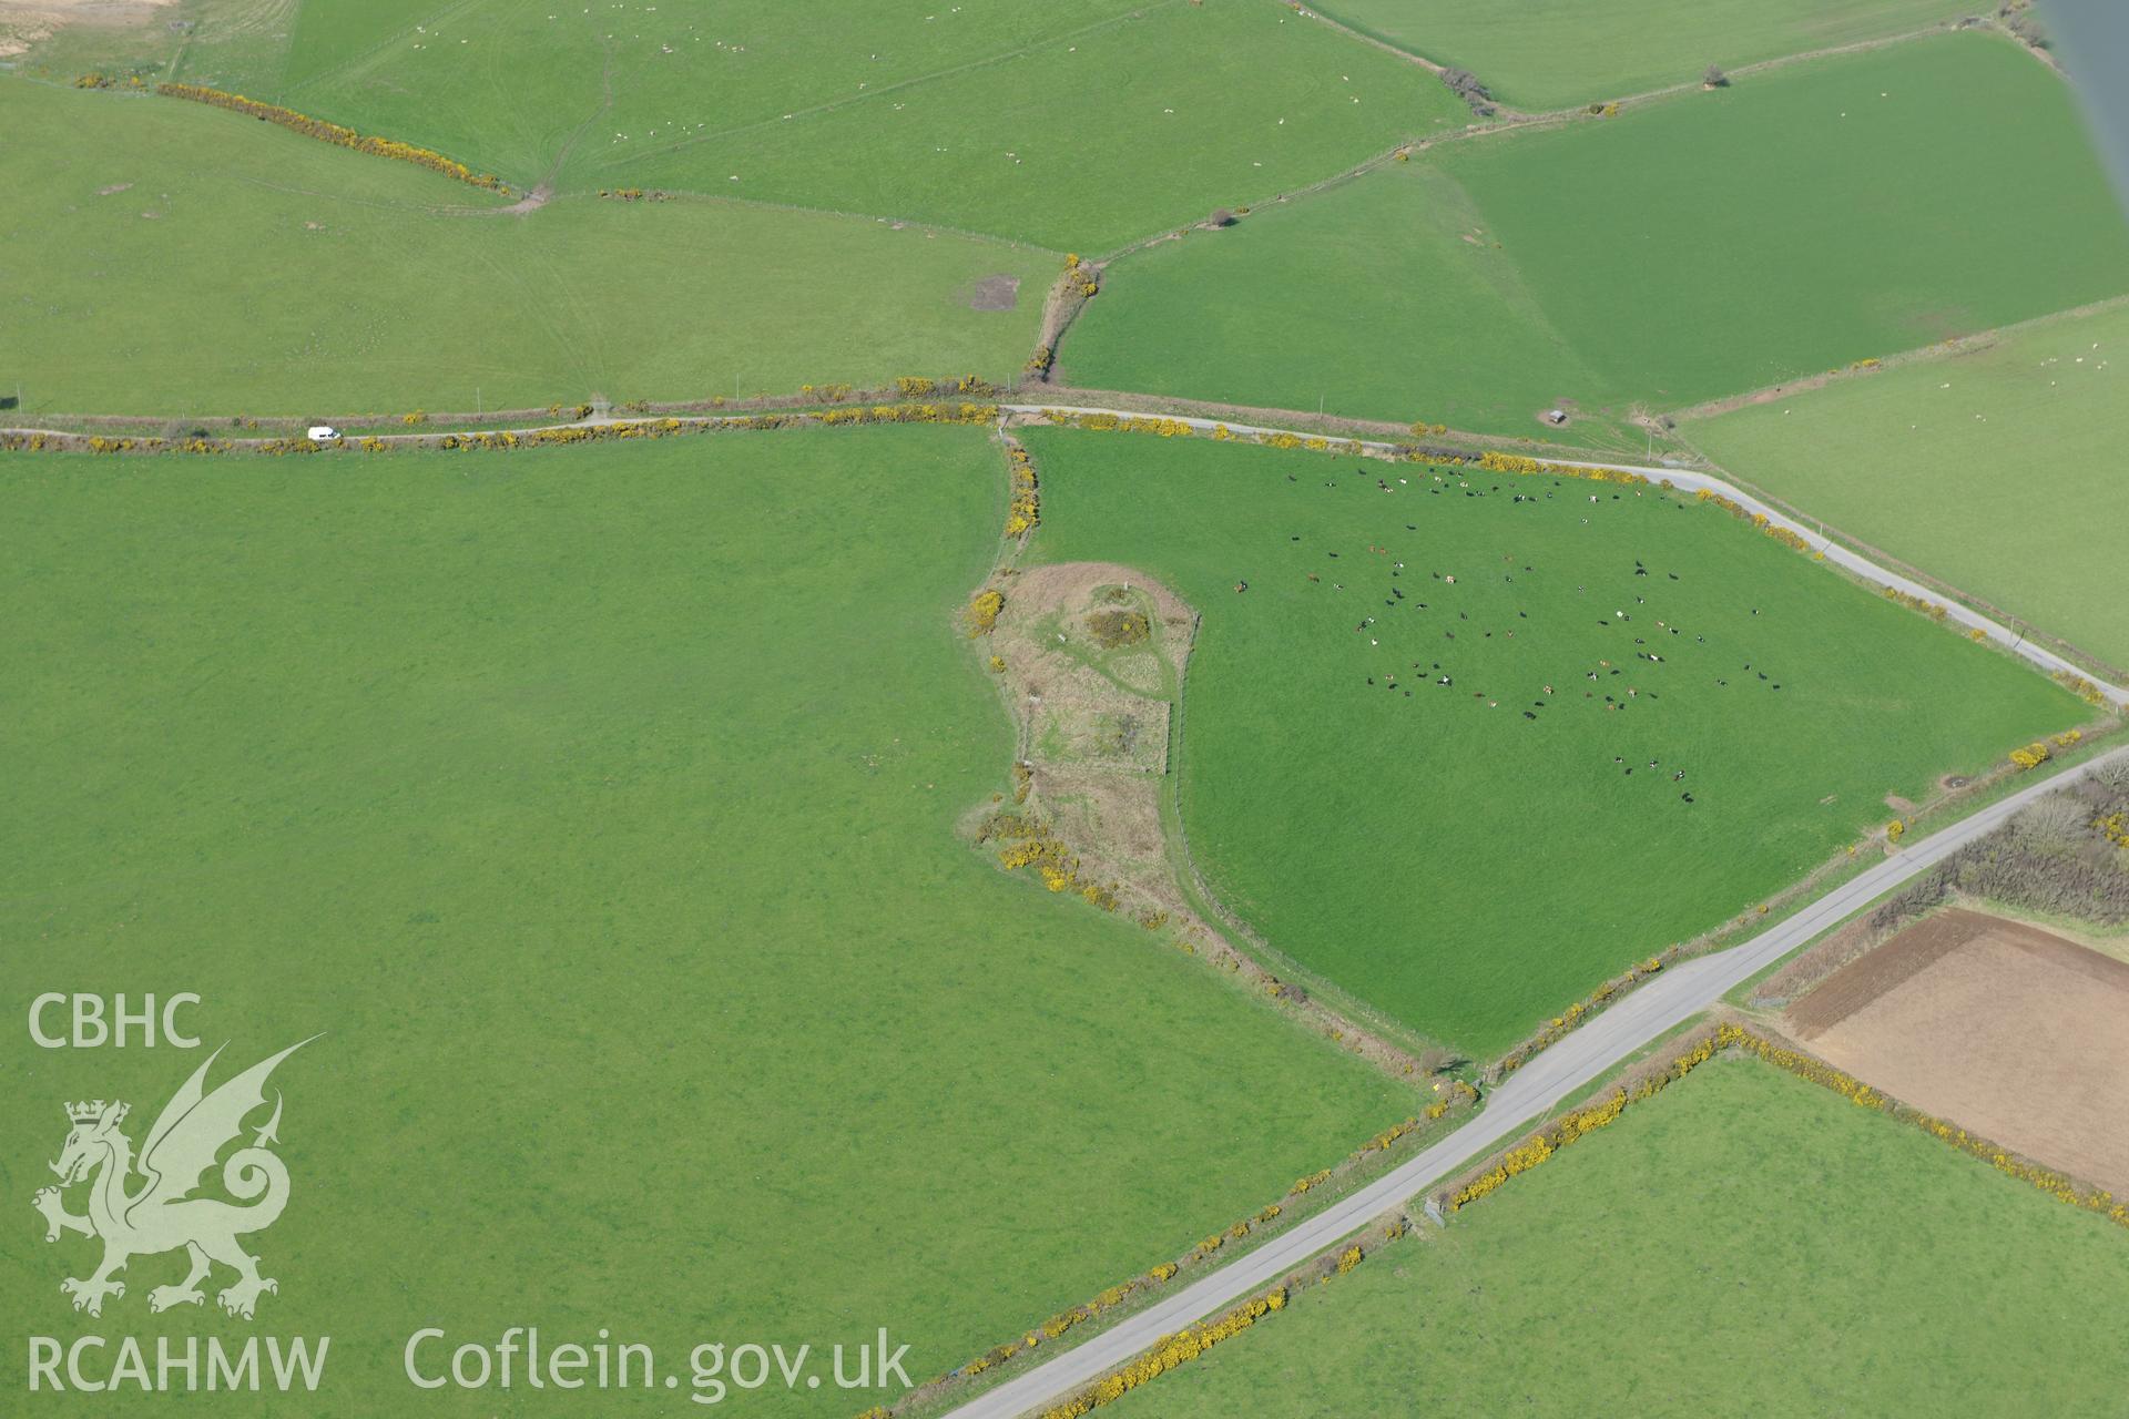
[{"label": "green pasture above the white van, bare brown patch at right end", "polygon": [[[1060,257],[728,200],[477,187],[168,98],[0,81],[28,411],[392,413],[1005,379]],[[986,277],[1009,311],[975,308]]]}]

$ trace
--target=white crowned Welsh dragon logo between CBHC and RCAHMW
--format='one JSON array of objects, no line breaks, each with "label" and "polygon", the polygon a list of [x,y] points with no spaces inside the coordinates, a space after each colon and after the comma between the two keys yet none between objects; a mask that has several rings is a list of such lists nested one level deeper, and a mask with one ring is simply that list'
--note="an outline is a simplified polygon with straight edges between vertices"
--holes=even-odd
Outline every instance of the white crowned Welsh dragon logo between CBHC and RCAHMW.
[{"label": "white crowned Welsh dragon logo between CBHC and RCAHMW", "polygon": [[[311,1036],[313,1040],[317,1036]],[[138,1159],[121,1123],[130,1113],[117,1100],[66,1106],[72,1132],[51,1170],[57,1187],[38,1189],[32,1204],[45,1215],[45,1240],[62,1232],[96,1236],[104,1242],[104,1259],[87,1279],[68,1279],[60,1291],[75,1298],[75,1311],[102,1315],[106,1296],[126,1296],[126,1283],[115,1274],[138,1255],[185,1249],[192,1270],[177,1285],[160,1285],[147,1293],[149,1311],[198,1306],[200,1283],[219,1262],[236,1272],[236,1281],[217,1300],[230,1315],[251,1319],[260,1291],[279,1291],[273,1276],[262,1276],[258,1257],[236,1238],[264,1232],[287,1206],[287,1168],[268,1149],[279,1142],[281,1094],[275,1091],[273,1117],[260,1125],[247,1147],[238,1147],[221,1164],[221,1187],[245,1206],[219,1198],[196,1198],[200,1183],[215,1168],[230,1142],[238,1142],[245,1119],[266,1106],[266,1076],[292,1053],[309,1045],[298,1040],[279,1055],[253,1064],[243,1074],[207,1091],[207,1070],[221,1055],[207,1057],[177,1096],[162,1106],[155,1125],[147,1130]],[[134,1174],[143,1179],[134,1185]],[[89,1211],[66,1211],[62,1189],[89,1185]]]}]

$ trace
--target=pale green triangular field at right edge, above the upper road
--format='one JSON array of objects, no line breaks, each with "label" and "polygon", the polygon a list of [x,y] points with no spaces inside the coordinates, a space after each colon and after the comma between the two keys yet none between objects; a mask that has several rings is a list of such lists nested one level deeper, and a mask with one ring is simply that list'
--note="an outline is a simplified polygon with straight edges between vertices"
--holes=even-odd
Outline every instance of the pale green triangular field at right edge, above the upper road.
[{"label": "pale green triangular field at right edge, above the upper road", "polygon": [[2129,306],[2116,306],[1682,432],[1778,498],[2129,666],[2110,570],[2129,560],[2125,349]]}]

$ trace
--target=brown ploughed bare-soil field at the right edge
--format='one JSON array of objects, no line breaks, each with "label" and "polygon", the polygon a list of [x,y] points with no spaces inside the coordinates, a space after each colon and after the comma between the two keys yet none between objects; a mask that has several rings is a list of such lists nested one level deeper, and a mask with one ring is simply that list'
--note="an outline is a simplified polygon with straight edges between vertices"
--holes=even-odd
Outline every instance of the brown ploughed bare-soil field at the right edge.
[{"label": "brown ploughed bare-soil field at the right edge", "polygon": [[1954,908],[1827,976],[1788,1032],[1905,1104],[2129,1193],[2129,964]]}]

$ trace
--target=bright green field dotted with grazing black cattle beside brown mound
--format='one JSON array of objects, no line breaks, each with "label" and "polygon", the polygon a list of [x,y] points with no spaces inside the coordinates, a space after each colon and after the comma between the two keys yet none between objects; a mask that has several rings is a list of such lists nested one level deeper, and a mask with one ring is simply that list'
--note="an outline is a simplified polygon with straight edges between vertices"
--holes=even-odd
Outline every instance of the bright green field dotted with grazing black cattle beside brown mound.
[{"label": "bright green field dotted with grazing black cattle beside brown mound", "polygon": [[1026,445],[1045,562],[1122,562],[1205,617],[1179,802],[1214,891],[1473,1057],[1882,825],[1888,794],[1920,802],[2084,715],[1654,489]]}]

